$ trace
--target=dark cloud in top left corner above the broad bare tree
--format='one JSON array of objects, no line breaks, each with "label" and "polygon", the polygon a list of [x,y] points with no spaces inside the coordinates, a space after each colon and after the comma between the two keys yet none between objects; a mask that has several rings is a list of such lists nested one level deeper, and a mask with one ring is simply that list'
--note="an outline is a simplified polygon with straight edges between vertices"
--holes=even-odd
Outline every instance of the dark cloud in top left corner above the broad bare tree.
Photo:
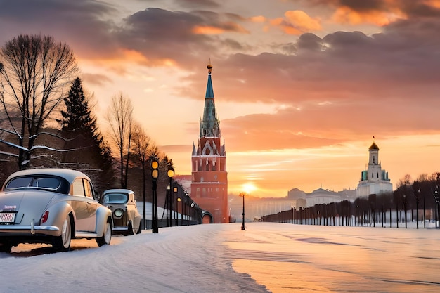
[{"label": "dark cloud in top left corner above the broad bare tree", "polygon": [[51,34],[76,54],[105,58],[117,44],[110,35],[115,25],[103,19],[115,13],[115,6],[93,0],[0,1],[0,42],[23,33]]}]

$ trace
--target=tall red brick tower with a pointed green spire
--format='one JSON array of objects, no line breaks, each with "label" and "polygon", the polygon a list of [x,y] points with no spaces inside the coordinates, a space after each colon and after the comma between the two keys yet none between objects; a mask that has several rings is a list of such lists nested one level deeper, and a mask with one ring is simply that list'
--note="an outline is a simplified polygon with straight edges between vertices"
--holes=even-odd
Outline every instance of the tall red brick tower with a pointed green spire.
[{"label": "tall red brick tower with a pointed green spire", "polygon": [[226,150],[221,143],[220,121],[216,115],[212,88],[212,65],[207,65],[208,82],[203,117],[200,119],[198,147],[191,156],[191,197],[209,211],[213,223],[228,223],[228,172]]}]

